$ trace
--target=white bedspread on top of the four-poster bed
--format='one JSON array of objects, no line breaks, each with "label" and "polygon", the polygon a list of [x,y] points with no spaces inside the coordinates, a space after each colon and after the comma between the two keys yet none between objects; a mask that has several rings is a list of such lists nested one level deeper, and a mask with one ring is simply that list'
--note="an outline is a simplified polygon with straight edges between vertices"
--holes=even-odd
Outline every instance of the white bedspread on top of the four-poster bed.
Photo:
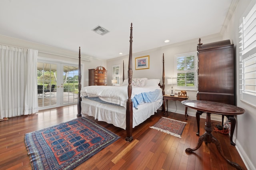
[{"label": "white bedspread on top of the four-poster bed", "polygon": [[[158,99],[162,97],[162,89],[157,86],[143,86],[143,87],[132,87],[133,99],[135,95],[140,93],[153,92],[156,89],[160,90]],[[126,102],[128,99],[128,87],[127,86],[87,86],[83,87],[80,91],[81,97],[99,97],[101,100],[114,103],[126,108]],[[156,99],[156,100],[158,100]]]}]

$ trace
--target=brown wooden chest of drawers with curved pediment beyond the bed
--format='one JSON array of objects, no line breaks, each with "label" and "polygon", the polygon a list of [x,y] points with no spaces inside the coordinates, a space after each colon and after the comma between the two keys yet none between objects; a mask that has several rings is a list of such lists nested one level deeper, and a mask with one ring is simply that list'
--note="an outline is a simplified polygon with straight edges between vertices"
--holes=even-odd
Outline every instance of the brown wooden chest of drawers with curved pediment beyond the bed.
[{"label": "brown wooden chest of drawers with curved pediment beyond the bed", "polygon": [[107,85],[108,71],[98,66],[96,69],[89,69],[89,85]]}]

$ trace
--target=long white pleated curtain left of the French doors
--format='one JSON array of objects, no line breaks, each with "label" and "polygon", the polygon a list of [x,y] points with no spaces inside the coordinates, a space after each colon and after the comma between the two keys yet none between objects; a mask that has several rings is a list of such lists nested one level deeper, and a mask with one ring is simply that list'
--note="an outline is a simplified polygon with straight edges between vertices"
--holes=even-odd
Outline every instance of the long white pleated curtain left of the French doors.
[{"label": "long white pleated curtain left of the French doors", "polygon": [[0,119],[38,112],[38,50],[0,45]]}]

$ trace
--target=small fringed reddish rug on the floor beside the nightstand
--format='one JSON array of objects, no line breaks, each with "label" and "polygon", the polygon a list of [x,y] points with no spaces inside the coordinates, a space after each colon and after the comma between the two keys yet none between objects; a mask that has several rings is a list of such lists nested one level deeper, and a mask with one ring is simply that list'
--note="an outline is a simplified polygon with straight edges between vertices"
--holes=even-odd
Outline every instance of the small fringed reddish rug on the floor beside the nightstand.
[{"label": "small fringed reddish rug on the floor beside the nightstand", "polygon": [[161,132],[165,132],[178,138],[181,138],[180,135],[182,134],[186,126],[186,123],[187,122],[162,117],[154,126],[150,128],[154,128],[156,130],[160,130]]}]

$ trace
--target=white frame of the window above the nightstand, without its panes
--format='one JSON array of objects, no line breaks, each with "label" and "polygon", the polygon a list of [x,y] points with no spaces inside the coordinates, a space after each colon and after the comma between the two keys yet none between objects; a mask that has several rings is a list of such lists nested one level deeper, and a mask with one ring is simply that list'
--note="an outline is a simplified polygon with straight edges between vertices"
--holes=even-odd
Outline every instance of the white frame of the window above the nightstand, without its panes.
[{"label": "white frame of the window above the nightstand, without its panes", "polygon": [[[190,56],[194,56],[194,69],[193,70],[178,70],[178,58],[180,57],[190,57]],[[197,57],[197,53],[196,51],[194,52],[190,52],[190,53],[184,53],[184,54],[178,54],[175,55],[175,77],[177,77],[177,81],[179,81],[179,77],[178,74],[179,73],[194,73],[194,86],[178,86],[178,84],[176,85],[176,89],[178,90],[190,90],[190,91],[197,91],[198,89],[198,57]],[[186,78],[185,78],[186,79]]]}]

